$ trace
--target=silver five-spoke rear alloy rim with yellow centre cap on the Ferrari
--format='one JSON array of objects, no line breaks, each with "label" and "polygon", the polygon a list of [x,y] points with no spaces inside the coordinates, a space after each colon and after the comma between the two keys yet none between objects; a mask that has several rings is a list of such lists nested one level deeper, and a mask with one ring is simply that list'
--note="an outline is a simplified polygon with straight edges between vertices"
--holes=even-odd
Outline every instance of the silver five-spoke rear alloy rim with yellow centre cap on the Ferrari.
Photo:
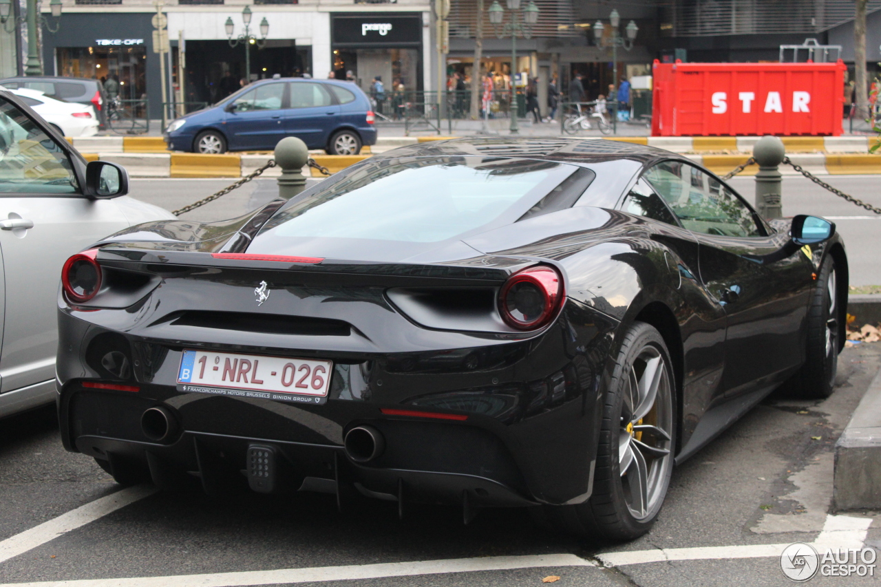
[{"label": "silver five-spoke rear alloy rim with yellow centre cap on the Ferrari", "polygon": [[618,469],[627,509],[645,520],[661,508],[672,457],[673,405],[669,368],[646,345],[630,368],[618,432]]}]

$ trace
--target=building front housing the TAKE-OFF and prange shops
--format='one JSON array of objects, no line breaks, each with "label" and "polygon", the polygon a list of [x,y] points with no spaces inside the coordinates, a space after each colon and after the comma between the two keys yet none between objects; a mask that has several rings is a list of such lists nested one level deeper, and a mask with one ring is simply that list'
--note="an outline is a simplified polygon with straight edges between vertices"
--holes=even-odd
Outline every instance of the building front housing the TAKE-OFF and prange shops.
[{"label": "building front housing the TAKE-OFF and prange shops", "polygon": [[[231,47],[226,32],[227,19],[233,21],[233,41],[244,32],[246,6],[252,14],[250,33],[258,39],[248,46],[250,71],[245,43]],[[196,108],[274,75],[345,78],[351,71],[365,91],[377,75],[387,84],[403,78],[412,89],[430,84],[433,39],[427,0],[166,0],[162,14],[170,45],[164,54],[165,97],[154,50],[156,7],[149,0],[64,0],[58,32],[43,33],[45,73],[115,78],[120,98],[146,98],[155,118],[162,102],[180,99],[178,91]],[[265,40],[263,19],[269,24]]]}]

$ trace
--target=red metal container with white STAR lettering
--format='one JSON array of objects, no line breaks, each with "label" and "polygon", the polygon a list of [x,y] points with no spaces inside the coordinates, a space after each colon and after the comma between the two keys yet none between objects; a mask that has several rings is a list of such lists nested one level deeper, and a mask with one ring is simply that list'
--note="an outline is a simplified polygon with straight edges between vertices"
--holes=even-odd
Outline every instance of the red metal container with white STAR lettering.
[{"label": "red metal container with white STAR lettering", "polygon": [[841,134],[843,62],[653,65],[652,135]]}]

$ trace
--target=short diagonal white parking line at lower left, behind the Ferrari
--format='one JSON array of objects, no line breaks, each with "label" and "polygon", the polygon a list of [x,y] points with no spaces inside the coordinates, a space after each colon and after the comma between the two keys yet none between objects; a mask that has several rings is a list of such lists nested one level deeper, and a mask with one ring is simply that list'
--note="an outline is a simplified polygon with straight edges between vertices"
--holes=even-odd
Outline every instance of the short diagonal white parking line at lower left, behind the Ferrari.
[{"label": "short diagonal white parking line at lower left, behind the Ferrari", "polygon": [[117,491],[115,494],[86,503],[77,509],[71,509],[61,516],[48,520],[48,522],[43,522],[30,530],[5,539],[0,542],[0,562],[8,561],[12,557],[26,553],[32,548],[46,544],[49,540],[54,540],[71,530],[76,530],[81,526],[85,526],[85,524],[94,522],[98,518],[107,516],[107,514],[124,508],[130,503],[144,499],[144,497],[152,495],[156,491],[156,488],[151,486],[138,485],[128,487]]}]

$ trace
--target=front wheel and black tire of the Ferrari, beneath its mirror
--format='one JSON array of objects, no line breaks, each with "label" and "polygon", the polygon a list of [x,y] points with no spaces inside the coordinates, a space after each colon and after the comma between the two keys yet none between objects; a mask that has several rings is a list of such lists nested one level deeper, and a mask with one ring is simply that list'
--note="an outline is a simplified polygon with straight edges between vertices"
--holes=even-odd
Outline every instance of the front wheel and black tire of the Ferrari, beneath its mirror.
[{"label": "front wheel and black tire of the Ferrari, beneath its mirror", "polygon": [[[832,295],[830,295],[832,294]],[[807,348],[804,364],[786,385],[788,395],[823,399],[835,389],[842,318],[838,273],[831,255],[826,256],[808,307]]]}]

